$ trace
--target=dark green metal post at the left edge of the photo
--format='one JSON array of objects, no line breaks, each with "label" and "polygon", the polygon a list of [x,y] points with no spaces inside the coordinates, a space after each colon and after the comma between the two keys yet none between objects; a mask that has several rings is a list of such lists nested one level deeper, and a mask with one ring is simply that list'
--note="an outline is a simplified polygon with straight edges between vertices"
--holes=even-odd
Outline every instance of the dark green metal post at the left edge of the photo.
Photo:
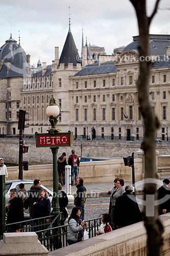
[{"label": "dark green metal post at the left edge of the photo", "polygon": [[5,233],[5,175],[0,175],[0,237]]}]

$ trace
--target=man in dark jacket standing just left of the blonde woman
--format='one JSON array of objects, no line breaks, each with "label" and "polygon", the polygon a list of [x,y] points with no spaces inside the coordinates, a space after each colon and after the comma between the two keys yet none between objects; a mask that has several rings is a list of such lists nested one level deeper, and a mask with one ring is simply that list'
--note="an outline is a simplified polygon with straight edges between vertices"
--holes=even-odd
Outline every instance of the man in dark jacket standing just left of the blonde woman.
[{"label": "man in dark jacket standing just left of the blonde woman", "polygon": [[28,192],[31,219],[36,218],[36,204],[34,205],[34,203],[35,202],[37,203],[38,201],[40,190],[41,190],[41,182],[40,180],[36,179],[34,180],[34,185],[30,188]]}]

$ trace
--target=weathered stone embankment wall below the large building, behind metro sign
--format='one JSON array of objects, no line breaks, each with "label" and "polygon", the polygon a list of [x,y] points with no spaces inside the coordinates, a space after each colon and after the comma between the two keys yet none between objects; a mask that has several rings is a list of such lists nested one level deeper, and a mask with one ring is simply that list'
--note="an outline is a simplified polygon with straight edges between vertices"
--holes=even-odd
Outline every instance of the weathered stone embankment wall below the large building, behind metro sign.
[{"label": "weathered stone embankment wall below the large building, behind metro sign", "polygon": [[[5,159],[6,163],[18,163],[18,151],[19,151],[19,138],[0,138],[0,157]],[[29,153],[23,154],[23,161],[28,160],[29,164],[50,164],[53,162],[52,152],[49,147],[39,147],[36,148],[36,143],[34,138],[25,138],[25,145],[29,146]],[[160,155],[170,155],[170,143],[157,143],[157,150]],[[134,152],[134,157],[137,158],[136,152],[140,148],[140,142],[136,141],[87,141],[87,140],[74,140],[74,145],[76,154],[78,156],[93,158],[108,158],[113,159],[115,157],[126,157]],[[66,157],[71,153],[70,147],[60,147],[58,151],[58,156],[66,152]]]}]

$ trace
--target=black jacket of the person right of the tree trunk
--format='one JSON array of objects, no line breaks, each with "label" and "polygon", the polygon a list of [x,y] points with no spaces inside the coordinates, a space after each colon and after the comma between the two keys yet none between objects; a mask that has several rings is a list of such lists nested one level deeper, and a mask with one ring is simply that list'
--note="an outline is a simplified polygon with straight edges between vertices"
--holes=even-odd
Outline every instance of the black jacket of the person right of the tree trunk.
[{"label": "black jacket of the person right of the tree trunk", "polygon": [[[166,198],[164,198],[165,196]],[[159,204],[159,215],[162,215],[163,209],[166,209],[166,213],[170,211],[170,188],[166,185],[162,185],[158,188],[158,200],[160,199],[162,200]]]}]

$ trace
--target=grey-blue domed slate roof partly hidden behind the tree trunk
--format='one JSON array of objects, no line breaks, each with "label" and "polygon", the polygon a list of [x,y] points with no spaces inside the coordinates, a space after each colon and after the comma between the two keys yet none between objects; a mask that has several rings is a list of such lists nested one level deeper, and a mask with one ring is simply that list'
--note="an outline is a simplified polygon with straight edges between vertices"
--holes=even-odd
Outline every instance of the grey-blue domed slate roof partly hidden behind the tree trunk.
[{"label": "grey-blue domed slate roof partly hidden behind the tree trunk", "polygon": [[[133,42],[124,49],[138,52],[139,36],[133,36]],[[170,46],[170,35],[149,35],[149,45],[151,55],[166,55],[166,47]]]}]

